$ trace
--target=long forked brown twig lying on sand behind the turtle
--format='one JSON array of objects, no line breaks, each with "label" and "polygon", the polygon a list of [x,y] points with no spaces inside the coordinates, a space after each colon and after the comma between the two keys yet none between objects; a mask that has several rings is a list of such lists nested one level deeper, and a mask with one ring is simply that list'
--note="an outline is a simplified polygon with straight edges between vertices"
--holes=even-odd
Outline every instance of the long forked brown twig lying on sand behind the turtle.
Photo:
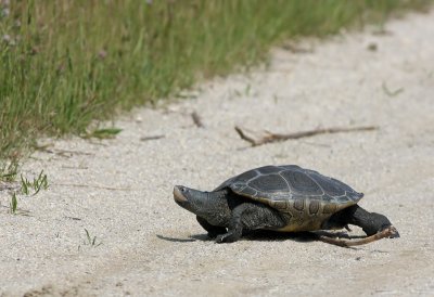
[{"label": "long forked brown twig lying on sand behind the turtle", "polygon": [[258,146],[266,143],[272,142],[280,142],[290,139],[301,139],[301,138],[309,138],[318,134],[331,134],[331,133],[343,133],[343,132],[355,132],[355,131],[373,131],[378,130],[379,127],[376,126],[361,126],[361,127],[352,127],[352,128],[323,128],[323,129],[316,129],[309,131],[302,131],[289,134],[279,134],[266,131],[265,135],[255,139],[254,137],[246,133],[245,130],[241,129],[239,126],[235,126],[235,131],[243,140],[250,142],[252,146]]}]

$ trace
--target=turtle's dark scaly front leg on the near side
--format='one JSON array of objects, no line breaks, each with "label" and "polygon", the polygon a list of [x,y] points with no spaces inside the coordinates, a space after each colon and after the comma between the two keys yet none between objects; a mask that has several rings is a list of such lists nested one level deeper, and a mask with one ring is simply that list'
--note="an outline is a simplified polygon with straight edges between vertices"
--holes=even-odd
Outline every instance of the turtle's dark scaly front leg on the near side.
[{"label": "turtle's dark scaly front leg on the near side", "polygon": [[[285,222],[270,207],[253,202],[241,203],[232,209],[228,232],[217,236],[217,243],[233,243],[241,238],[245,231],[256,229],[279,229]],[[244,231],[244,232],[243,232]]]}]

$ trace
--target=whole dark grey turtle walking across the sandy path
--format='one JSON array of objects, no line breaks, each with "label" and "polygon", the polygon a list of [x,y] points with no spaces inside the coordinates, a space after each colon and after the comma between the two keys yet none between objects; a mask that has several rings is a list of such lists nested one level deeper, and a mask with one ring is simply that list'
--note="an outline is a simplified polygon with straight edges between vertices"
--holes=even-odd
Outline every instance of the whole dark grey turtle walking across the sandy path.
[{"label": "whole dark grey turtle walking across the sandy path", "polygon": [[[233,243],[253,230],[305,232],[360,227],[367,237],[331,244],[350,246],[399,237],[391,221],[358,205],[362,193],[334,178],[297,165],[264,166],[232,177],[214,191],[174,186],[175,202],[196,215],[217,243]],[[353,243],[349,243],[353,242]]]}]

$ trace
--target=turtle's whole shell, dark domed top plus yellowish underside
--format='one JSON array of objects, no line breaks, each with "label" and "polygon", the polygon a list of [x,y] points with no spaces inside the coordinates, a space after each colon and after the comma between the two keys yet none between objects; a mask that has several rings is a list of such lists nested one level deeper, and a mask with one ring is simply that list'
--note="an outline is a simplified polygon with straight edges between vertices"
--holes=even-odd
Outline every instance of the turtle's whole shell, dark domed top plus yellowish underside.
[{"label": "turtle's whole shell, dark domed top plus yellowish underside", "polygon": [[333,214],[363,197],[336,179],[296,165],[252,169],[225,181],[215,191],[225,188],[279,210],[288,220],[281,231],[318,230]]}]

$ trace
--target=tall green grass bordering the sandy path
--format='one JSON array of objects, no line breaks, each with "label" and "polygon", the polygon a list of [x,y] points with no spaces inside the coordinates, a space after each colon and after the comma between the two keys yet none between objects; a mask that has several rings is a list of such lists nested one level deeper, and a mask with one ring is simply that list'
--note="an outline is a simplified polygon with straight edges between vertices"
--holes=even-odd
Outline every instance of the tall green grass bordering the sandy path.
[{"label": "tall green grass bordering the sandy path", "polygon": [[[14,164],[39,135],[89,135],[93,120],[167,98],[200,79],[246,68],[264,61],[268,49],[283,39],[324,36],[368,21],[382,24],[392,12],[429,3],[27,0],[0,4],[0,159]],[[10,173],[10,165],[3,162],[0,172]]]}]

